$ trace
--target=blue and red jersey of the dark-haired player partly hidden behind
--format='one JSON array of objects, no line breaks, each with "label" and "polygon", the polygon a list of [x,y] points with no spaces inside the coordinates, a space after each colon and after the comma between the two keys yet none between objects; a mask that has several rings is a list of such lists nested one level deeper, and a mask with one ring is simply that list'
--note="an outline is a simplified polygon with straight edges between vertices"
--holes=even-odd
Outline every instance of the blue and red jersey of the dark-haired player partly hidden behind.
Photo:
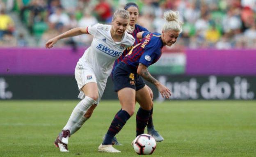
[{"label": "blue and red jersey of the dark-haired player partly hidden behind", "polygon": [[[142,32],[142,31],[147,32],[148,30],[147,30],[146,28],[144,28],[144,27],[138,25],[138,24],[135,24],[135,29],[134,29],[133,33],[130,33],[131,35],[133,35],[133,38],[135,39],[135,42],[134,42],[133,46],[135,46],[135,45],[137,45],[137,44],[140,43],[140,40],[137,38],[137,33]],[[133,49],[133,46],[130,46],[130,47],[128,47],[127,49],[125,49],[125,50],[123,51],[123,54],[122,54],[119,58],[117,58],[117,60],[115,60],[111,74],[113,74],[115,66],[116,66],[121,60],[123,60],[123,57],[126,56],[127,53],[129,53],[129,51],[130,51],[131,49]]]}]

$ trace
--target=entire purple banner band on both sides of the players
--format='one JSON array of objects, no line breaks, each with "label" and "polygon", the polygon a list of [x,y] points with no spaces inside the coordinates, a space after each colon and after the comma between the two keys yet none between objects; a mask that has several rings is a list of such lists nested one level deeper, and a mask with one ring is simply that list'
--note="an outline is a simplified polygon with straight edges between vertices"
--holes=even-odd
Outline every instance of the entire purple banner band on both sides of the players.
[{"label": "entire purple banner band on both sides of the players", "polygon": [[[73,75],[85,48],[0,49],[0,75]],[[186,75],[256,75],[256,50],[185,50]]]}]

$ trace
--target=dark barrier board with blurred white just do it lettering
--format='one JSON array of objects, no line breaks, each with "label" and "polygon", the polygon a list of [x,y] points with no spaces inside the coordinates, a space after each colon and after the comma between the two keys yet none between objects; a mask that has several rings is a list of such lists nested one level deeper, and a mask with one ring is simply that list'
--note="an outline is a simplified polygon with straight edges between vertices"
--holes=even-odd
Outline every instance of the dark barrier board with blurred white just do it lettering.
[{"label": "dark barrier board with blurred white just do it lettering", "polygon": [[[155,75],[171,89],[173,100],[255,100],[256,76],[171,76]],[[155,100],[162,101],[157,89],[147,83]],[[78,87],[71,75],[5,75],[0,76],[0,100],[76,99]],[[117,99],[111,78],[102,97]]]}]

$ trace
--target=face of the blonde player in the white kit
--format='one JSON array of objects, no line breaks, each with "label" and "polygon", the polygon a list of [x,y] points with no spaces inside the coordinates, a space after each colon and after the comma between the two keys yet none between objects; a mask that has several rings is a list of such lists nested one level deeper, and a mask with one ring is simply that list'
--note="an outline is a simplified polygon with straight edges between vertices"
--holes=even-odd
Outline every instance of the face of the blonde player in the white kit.
[{"label": "face of the blonde player in the white kit", "polygon": [[117,17],[117,19],[114,20],[112,24],[113,24],[114,34],[123,35],[123,33],[126,31],[126,28],[129,24],[129,20]]}]

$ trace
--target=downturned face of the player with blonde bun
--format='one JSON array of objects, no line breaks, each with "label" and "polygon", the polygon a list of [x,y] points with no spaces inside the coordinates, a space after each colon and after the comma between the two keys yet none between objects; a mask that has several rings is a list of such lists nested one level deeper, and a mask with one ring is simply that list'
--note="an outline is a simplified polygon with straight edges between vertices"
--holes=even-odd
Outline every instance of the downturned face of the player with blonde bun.
[{"label": "downturned face of the player with blonde bun", "polygon": [[165,45],[171,46],[177,41],[179,31],[162,31],[162,41]]}]

